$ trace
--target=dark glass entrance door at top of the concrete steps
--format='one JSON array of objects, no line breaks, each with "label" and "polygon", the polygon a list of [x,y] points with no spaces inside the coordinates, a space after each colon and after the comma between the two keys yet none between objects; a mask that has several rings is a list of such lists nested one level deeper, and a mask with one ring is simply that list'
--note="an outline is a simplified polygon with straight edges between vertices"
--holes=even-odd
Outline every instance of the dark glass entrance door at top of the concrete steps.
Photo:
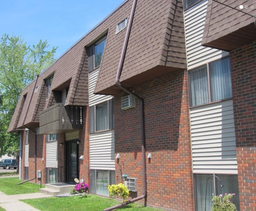
[{"label": "dark glass entrance door at top of the concrete steps", "polygon": [[66,169],[67,169],[67,182],[75,183],[74,179],[79,179],[78,169],[78,144],[76,141],[69,141],[67,143],[66,153]]}]

